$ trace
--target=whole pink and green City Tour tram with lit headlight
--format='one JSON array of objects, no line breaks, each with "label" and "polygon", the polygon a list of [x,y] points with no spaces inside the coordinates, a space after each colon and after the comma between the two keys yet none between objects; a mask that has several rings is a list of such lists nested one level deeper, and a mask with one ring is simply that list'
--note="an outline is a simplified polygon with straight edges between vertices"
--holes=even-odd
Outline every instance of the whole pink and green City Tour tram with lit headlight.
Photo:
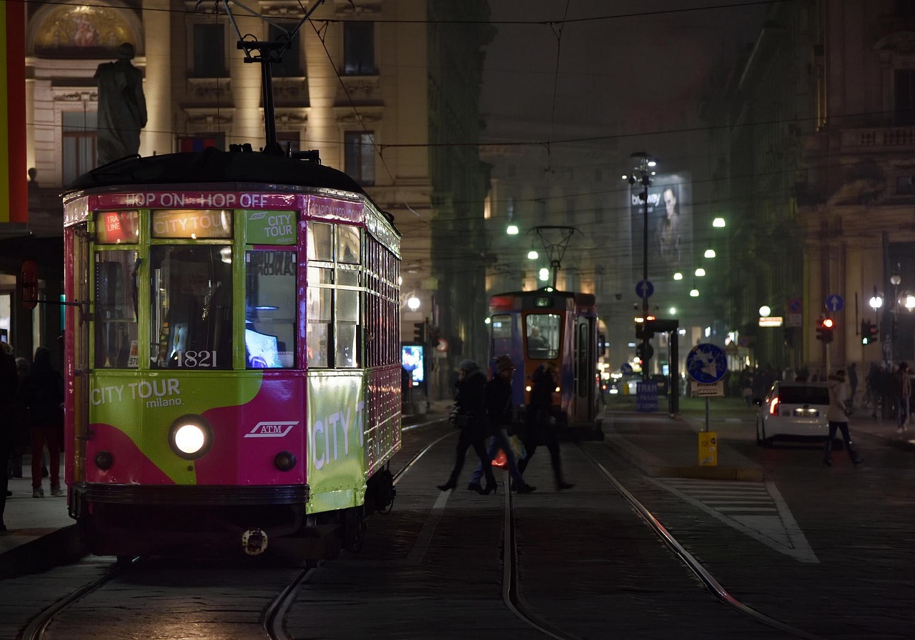
[{"label": "whole pink and green City Tour tram with lit headlight", "polygon": [[130,157],[64,194],[66,480],[95,554],[332,558],[388,509],[400,233],[318,162]]}]

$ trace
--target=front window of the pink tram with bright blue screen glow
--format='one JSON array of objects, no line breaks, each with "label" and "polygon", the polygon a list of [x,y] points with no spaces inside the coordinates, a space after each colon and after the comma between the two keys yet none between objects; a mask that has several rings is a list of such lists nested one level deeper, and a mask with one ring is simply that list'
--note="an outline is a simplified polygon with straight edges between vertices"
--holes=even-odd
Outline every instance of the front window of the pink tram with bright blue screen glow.
[{"label": "front window of the pink tram with bright blue screen glow", "polygon": [[244,360],[247,368],[292,368],[296,353],[296,252],[248,251]]}]

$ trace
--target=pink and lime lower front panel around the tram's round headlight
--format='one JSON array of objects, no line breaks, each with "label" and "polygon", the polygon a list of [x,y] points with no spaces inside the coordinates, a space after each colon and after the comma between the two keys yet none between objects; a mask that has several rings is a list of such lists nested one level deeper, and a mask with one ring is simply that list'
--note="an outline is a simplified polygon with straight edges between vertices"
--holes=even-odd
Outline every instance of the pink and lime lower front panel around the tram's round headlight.
[{"label": "pink and lime lower front panel around the tram's round headlight", "polygon": [[[304,465],[281,472],[273,463],[280,451],[304,457],[300,379],[208,374],[94,376],[86,455],[92,460],[97,453],[113,452],[115,464],[104,471],[88,465],[86,480],[147,485],[305,482]],[[176,421],[188,416],[202,418],[211,430],[206,453],[194,460],[177,455],[169,438]]]}]

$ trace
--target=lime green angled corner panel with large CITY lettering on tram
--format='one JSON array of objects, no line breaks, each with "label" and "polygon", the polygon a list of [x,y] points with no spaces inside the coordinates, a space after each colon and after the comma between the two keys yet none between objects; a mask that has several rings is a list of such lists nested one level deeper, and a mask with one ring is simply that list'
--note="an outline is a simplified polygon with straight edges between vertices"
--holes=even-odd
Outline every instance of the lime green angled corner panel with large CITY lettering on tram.
[{"label": "lime green angled corner panel with large CITY lettering on tram", "polygon": [[361,376],[308,377],[308,513],[362,504],[368,477],[363,386]]}]

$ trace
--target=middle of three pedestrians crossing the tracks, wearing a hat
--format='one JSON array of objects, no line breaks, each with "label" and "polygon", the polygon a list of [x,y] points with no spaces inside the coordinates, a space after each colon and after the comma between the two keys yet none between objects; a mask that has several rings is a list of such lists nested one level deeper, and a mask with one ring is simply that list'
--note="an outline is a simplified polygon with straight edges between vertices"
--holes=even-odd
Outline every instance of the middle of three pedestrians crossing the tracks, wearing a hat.
[{"label": "middle of three pedestrians crossing the tracks, wearing a hat", "polygon": [[[518,470],[518,461],[514,455],[514,449],[509,441],[511,430],[511,376],[514,375],[515,366],[508,355],[496,358],[496,375],[486,383],[484,389],[486,394],[486,413],[490,418],[492,427],[492,437],[487,447],[486,453],[490,460],[496,457],[501,449],[505,453],[508,462],[509,474],[514,481],[514,488],[520,494],[529,494],[537,487],[528,485],[524,482],[521,471]],[[491,463],[490,463],[491,465]],[[484,489],[479,485],[480,478],[483,477],[483,467],[481,462],[477,465],[473,474],[470,475],[470,484],[467,485],[469,491],[483,493]]]}]

